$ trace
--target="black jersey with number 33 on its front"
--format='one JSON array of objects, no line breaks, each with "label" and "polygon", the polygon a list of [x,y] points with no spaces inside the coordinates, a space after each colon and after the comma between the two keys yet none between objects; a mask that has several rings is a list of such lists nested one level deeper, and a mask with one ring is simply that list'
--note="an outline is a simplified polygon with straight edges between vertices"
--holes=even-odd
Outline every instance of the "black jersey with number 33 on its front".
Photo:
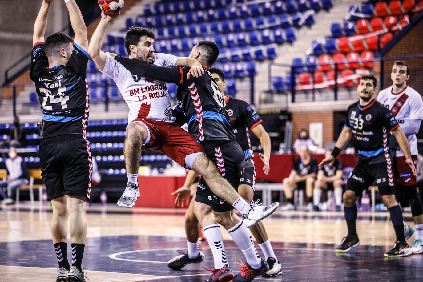
[{"label": "black jersey with number 33 on its front", "polygon": [[365,107],[360,107],[360,101],[350,105],[345,126],[352,130],[352,142],[358,154],[373,157],[389,150],[389,131],[399,125],[391,112],[374,99]]}]

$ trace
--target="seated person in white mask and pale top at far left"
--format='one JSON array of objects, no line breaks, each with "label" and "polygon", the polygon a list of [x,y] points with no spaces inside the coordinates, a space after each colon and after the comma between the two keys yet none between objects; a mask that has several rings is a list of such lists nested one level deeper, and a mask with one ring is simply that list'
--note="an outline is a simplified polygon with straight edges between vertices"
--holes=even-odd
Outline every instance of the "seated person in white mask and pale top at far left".
[{"label": "seated person in white mask and pale top at far left", "polygon": [[0,181],[0,189],[7,187],[8,197],[3,203],[13,204],[15,202],[16,188],[28,184],[28,172],[24,159],[16,154],[16,149],[9,149],[9,158],[6,159],[7,180]]}]

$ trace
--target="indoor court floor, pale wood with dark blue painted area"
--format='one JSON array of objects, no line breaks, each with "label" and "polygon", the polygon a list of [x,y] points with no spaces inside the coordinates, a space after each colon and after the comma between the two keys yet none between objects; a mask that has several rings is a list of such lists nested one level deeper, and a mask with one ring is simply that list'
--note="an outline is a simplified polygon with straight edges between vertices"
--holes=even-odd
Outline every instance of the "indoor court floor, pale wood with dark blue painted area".
[{"label": "indoor court floor, pale wood with dark blue painted area", "polygon": [[[51,217],[48,206],[0,206],[1,282],[55,281]],[[404,217],[414,226],[411,214]],[[209,278],[210,272],[201,268],[213,267],[205,241],[200,243],[206,255],[202,263],[181,271],[166,266],[178,249],[186,251],[182,209],[91,206],[87,220],[82,265],[90,282],[205,282]],[[423,281],[423,255],[384,258],[395,241],[387,212],[359,212],[360,246],[346,254],[334,250],[347,233],[343,212],[278,211],[263,222],[283,273],[254,281]],[[222,232],[228,262],[234,272],[239,271],[235,260],[244,260],[244,256],[228,233]],[[414,236],[409,244],[412,240]]]}]

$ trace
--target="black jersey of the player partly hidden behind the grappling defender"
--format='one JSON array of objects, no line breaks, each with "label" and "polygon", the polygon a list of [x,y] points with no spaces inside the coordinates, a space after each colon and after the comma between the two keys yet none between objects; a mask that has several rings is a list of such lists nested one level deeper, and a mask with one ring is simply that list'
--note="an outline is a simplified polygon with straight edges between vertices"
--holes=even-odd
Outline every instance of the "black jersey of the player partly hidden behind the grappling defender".
[{"label": "black jersey of the player partly hidden behind the grappling defender", "polygon": [[245,159],[253,158],[254,152],[251,149],[248,130],[253,130],[253,128],[262,123],[263,120],[261,120],[260,116],[258,116],[246,101],[228,97],[225,102],[236,141],[241,145]]}]

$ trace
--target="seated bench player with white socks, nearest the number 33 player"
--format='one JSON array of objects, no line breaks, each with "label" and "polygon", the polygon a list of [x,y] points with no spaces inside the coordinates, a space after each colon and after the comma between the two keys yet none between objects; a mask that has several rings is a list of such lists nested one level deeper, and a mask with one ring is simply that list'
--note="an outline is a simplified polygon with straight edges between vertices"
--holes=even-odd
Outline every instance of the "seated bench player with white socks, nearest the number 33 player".
[{"label": "seated bench player with white socks, nearest the number 33 player", "polygon": [[[325,157],[330,156],[332,150],[327,150]],[[335,194],[335,210],[341,211],[342,202],[342,174],[343,165],[338,159],[329,164],[325,164],[321,170],[317,172],[317,179],[314,181],[313,190],[313,210],[319,211],[319,203],[322,189],[334,190]]]}]

